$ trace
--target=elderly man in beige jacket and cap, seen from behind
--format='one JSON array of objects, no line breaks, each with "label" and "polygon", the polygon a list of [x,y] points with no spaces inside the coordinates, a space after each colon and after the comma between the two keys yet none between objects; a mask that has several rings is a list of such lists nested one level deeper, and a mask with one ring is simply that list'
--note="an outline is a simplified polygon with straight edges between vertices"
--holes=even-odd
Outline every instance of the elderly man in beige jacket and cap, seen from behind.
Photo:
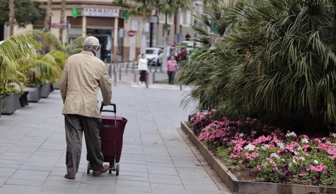
[{"label": "elderly man in beige jacket and cap, seen from behind", "polygon": [[99,125],[101,122],[97,95],[99,88],[104,105],[109,105],[111,83],[104,62],[95,55],[99,40],[89,36],[84,41],[84,50],[69,57],[64,66],[60,83],[65,116],[66,167],[65,178],[74,179],[78,172],[82,152],[82,137],[85,136],[87,160],[93,169],[92,175],[107,172],[100,148]]}]

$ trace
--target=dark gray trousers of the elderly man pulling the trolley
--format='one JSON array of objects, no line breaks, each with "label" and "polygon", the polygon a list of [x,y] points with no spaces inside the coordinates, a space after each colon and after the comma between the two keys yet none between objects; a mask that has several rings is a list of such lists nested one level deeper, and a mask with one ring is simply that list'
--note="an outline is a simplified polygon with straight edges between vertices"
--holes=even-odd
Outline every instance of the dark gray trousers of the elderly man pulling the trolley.
[{"label": "dark gray trousers of the elderly man pulling the trolley", "polygon": [[68,173],[78,172],[82,152],[83,131],[85,136],[86,158],[91,169],[99,170],[104,157],[100,148],[99,125],[101,119],[84,117],[78,114],[65,114],[66,168]]}]

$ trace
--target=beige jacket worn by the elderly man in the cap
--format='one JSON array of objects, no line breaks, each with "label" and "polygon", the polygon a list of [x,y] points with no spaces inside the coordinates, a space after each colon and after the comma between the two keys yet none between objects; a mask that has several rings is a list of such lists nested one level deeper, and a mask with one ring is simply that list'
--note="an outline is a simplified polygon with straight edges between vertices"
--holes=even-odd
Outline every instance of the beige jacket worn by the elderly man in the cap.
[{"label": "beige jacket worn by the elderly man in the cap", "polygon": [[104,62],[90,51],[74,54],[66,61],[60,83],[64,103],[62,114],[80,114],[100,118],[97,95],[108,105],[112,87]]}]

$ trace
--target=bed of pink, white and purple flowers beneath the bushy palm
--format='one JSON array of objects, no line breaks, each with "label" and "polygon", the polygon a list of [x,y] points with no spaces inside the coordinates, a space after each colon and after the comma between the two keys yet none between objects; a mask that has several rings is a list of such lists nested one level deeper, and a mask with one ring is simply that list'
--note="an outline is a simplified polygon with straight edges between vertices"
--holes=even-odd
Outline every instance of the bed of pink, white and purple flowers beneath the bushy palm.
[{"label": "bed of pink, white and purple flowers beneath the bushy palm", "polygon": [[191,115],[188,126],[240,180],[335,185],[336,133],[310,139],[252,118],[214,121],[211,112]]}]

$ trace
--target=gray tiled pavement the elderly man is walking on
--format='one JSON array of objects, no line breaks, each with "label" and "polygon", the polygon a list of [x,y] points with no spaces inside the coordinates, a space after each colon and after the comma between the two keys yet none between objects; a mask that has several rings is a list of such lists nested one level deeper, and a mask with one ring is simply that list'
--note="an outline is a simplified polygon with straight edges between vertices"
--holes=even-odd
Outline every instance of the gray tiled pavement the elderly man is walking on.
[{"label": "gray tiled pavement the elderly man is walking on", "polygon": [[120,173],[86,174],[86,150],[75,180],[63,178],[64,118],[59,90],[0,118],[0,193],[230,193],[219,190],[177,128],[190,110],[184,91],[119,84],[113,101],[128,119]]}]

